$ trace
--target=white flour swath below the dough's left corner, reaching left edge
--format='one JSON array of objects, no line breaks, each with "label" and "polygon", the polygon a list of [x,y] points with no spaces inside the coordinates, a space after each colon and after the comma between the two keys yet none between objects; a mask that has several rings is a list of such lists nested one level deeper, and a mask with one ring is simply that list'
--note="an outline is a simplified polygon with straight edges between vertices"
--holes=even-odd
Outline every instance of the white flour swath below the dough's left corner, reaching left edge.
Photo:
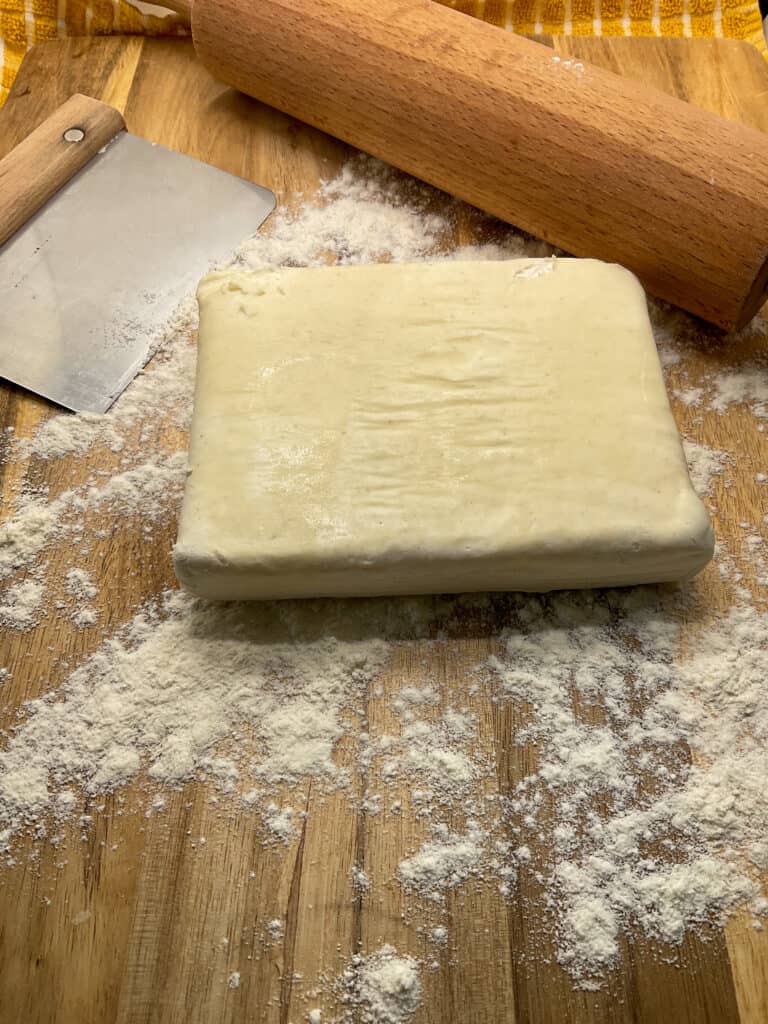
[{"label": "white flour swath below the dough's left corner, reaching left edge", "polygon": [[[109,792],[142,765],[150,778],[166,783],[196,775],[225,790],[232,777],[291,781],[297,766],[283,750],[290,748],[289,720],[300,730],[305,777],[335,774],[329,730],[340,731],[342,709],[381,670],[389,649],[375,639],[291,643],[280,614],[276,608],[278,621],[269,623],[258,606],[205,606],[176,593],[167,596],[162,618],[137,615],[58,694],[27,705],[0,752],[0,827],[42,825],[65,779],[86,793]],[[270,626],[282,642],[269,642]],[[261,751],[255,760],[250,748],[243,752],[247,769],[237,753],[209,757],[246,726]],[[272,831],[282,838],[287,811],[271,813]]]}]

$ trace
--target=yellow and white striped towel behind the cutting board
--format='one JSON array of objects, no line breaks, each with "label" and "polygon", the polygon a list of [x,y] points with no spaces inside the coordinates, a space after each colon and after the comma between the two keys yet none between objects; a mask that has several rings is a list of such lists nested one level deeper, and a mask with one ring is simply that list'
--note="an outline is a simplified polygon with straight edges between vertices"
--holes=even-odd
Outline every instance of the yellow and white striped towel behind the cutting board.
[{"label": "yellow and white striped towel behind the cutting board", "polygon": [[[758,0],[440,0],[522,35],[724,36],[766,53]],[[174,14],[125,0],[0,0],[0,105],[34,43],[58,36],[182,34]]]}]

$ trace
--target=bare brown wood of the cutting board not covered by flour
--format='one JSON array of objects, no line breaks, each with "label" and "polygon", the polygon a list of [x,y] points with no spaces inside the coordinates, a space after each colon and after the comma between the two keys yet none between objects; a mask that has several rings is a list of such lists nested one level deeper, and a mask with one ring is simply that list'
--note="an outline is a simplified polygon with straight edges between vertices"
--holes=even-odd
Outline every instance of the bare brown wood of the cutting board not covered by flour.
[{"label": "bare brown wood of the cutting board not covered by flour", "polygon": [[[746,44],[558,39],[552,45],[563,57],[643,79],[768,131],[768,69]],[[124,112],[129,130],[260,182],[279,198],[310,196],[349,157],[343,144],[216,83],[196,62],[188,42],[139,38],[72,39],[33,49],[0,112],[0,155],[73,92],[114,103]],[[458,243],[482,241],[478,218],[470,213],[457,218]],[[754,351],[743,352],[744,358],[750,355]],[[717,348],[700,354],[710,370],[719,357]],[[699,356],[691,358],[695,362]],[[27,434],[51,412],[29,394],[0,387],[3,427]],[[676,406],[675,412],[681,426],[690,426],[691,410]],[[761,518],[759,498],[748,483],[765,468],[768,445],[765,435],[755,432],[754,421],[750,425],[750,414],[741,412],[743,420],[740,413],[729,417],[727,438],[716,416],[705,414],[700,428],[709,444],[722,442],[740,453],[727,515],[719,523],[721,536],[732,531],[735,537],[741,518]],[[77,482],[78,474],[98,469],[102,458],[106,454],[94,449],[77,462],[8,463],[4,504],[19,480],[60,487],[65,479]],[[2,637],[0,660],[13,671],[0,691],[4,727],[15,720],[25,699],[60,682],[56,666],[62,644],[71,660],[80,663],[102,637],[128,622],[142,600],[174,586],[169,558],[174,534],[173,522],[150,538],[138,528],[108,529],[89,556],[94,574],[108,580],[98,626],[62,636],[43,620],[32,633]],[[67,557],[66,546],[53,549],[49,564],[58,558],[65,567]],[[715,577],[710,573],[700,586],[717,606]],[[492,624],[487,633],[494,630],[498,634]],[[481,654],[483,644],[482,628],[468,630],[461,642],[443,644],[439,663],[432,666],[436,678],[459,687],[468,656]],[[396,675],[396,669],[391,671]],[[384,685],[389,685],[386,680]],[[488,711],[499,736],[509,734],[511,714],[508,706],[497,709],[495,717]],[[502,742],[499,752],[498,785],[511,787],[517,769]],[[82,842],[71,840],[66,856],[43,845],[39,859],[30,860],[23,846],[16,867],[0,869],[2,1024],[299,1024],[312,1006],[299,975],[338,972],[358,942],[370,949],[392,941],[399,952],[425,954],[423,942],[400,920],[396,887],[382,886],[376,899],[346,904],[335,903],[326,888],[337,873],[348,876],[354,851],[369,845],[381,864],[396,864],[407,855],[401,830],[377,829],[375,819],[350,817],[348,807],[342,810],[334,801],[315,814],[310,794],[300,841],[275,853],[254,843],[247,815],[212,815],[208,796],[203,785],[190,783],[169,795],[162,815],[137,824],[135,817],[123,815],[116,794],[100,810],[91,809],[92,828]],[[189,836],[201,835],[212,851],[208,857],[198,857],[189,844]],[[109,856],[100,855],[104,849],[112,851]],[[256,881],[243,884],[254,867]],[[552,950],[541,947],[541,933],[524,909],[529,905],[526,884],[521,880],[520,898],[510,902],[493,887],[473,890],[470,899],[452,897],[452,932],[465,941],[455,957],[441,957],[440,969],[430,973],[415,1024],[768,1021],[768,932],[754,930],[745,915],[732,919],[725,931],[687,938],[682,955],[672,962],[647,942],[630,943],[609,984],[585,992],[572,987]],[[286,921],[284,939],[262,955],[246,958],[243,936],[255,934],[259,923],[263,928],[267,915],[274,915],[275,900]],[[237,989],[227,985],[226,976],[226,964],[233,961],[221,954],[226,937],[229,948],[242,953]],[[324,1007],[330,1007],[328,999],[326,993]]]}]

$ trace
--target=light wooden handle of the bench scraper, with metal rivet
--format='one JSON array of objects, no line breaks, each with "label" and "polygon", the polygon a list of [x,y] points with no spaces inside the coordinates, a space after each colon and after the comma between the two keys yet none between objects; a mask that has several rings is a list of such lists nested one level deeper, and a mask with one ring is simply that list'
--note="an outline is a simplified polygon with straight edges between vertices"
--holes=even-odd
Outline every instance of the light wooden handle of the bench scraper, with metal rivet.
[{"label": "light wooden handle of the bench scraper, with metal rivet", "polygon": [[125,128],[109,103],[76,93],[0,160],[0,245]]}]

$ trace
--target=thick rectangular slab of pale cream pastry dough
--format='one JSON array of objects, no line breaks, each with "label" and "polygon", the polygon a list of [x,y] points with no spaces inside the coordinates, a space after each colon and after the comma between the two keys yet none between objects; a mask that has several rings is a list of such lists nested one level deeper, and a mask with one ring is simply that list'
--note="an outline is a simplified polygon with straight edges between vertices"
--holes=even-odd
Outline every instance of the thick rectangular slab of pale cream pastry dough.
[{"label": "thick rectangular slab of pale cream pastry dough", "polygon": [[627,270],[223,271],[198,297],[174,550],[196,594],[547,591],[712,557]]}]

